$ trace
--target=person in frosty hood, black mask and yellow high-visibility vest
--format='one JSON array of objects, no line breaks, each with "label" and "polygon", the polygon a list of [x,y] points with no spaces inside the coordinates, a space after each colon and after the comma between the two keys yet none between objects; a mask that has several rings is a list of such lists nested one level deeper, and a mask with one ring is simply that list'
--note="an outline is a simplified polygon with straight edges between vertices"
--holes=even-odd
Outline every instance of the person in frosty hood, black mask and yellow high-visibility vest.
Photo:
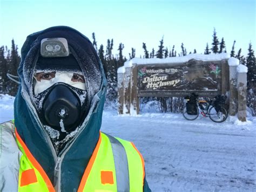
[{"label": "person in frosty hood, black mask and yellow high-visibility vest", "polygon": [[1,124],[1,191],[151,191],[132,142],[100,132],[103,65],[68,26],[29,35],[14,120]]}]

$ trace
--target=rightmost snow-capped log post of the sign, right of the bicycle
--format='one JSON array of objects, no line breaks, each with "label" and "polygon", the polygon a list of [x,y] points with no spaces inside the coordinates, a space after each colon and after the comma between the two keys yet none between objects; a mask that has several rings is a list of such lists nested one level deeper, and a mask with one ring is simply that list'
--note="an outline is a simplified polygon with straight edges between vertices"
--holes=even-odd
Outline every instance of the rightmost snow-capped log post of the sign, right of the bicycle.
[{"label": "rightmost snow-capped log post of the sign, right of the bicycle", "polygon": [[238,90],[238,119],[246,121],[246,93],[247,93],[247,67],[238,65],[237,90]]}]

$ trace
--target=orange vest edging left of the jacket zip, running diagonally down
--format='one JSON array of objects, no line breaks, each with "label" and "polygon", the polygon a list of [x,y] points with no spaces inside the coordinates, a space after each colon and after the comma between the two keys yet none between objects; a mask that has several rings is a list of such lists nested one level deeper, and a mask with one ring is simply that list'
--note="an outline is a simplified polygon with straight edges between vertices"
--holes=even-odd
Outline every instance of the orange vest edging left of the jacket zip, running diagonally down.
[{"label": "orange vest edging left of the jacket zip, running diagonally down", "polygon": [[33,155],[30,153],[28,147],[26,147],[25,143],[23,142],[23,140],[21,139],[21,136],[19,136],[17,129],[15,128],[15,134],[16,134],[16,138],[19,141],[19,143],[21,143],[21,146],[23,147],[26,156],[28,157],[28,159],[31,161],[31,163],[33,164],[33,166],[38,170],[38,172],[42,175],[44,182],[46,183],[46,186],[48,187],[50,192],[55,191],[55,189],[52,186],[52,183],[49,179],[49,177],[46,175],[46,173],[44,172],[44,169],[41,167],[41,165],[37,162],[37,160],[35,159],[35,157],[33,157]]}]

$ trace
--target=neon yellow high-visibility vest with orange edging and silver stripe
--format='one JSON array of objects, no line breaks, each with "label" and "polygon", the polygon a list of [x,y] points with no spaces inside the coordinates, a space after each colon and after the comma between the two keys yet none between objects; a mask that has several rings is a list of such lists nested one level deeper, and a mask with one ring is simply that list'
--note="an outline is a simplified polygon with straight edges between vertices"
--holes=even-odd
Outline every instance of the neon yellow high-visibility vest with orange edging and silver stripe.
[{"label": "neon yellow high-visibility vest with orange edging and silver stripe", "polygon": [[[15,132],[18,147],[23,153],[18,191],[55,191],[41,165]],[[78,192],[143,191],[144,177],[144,160],[133,143],[100,133]]]}]

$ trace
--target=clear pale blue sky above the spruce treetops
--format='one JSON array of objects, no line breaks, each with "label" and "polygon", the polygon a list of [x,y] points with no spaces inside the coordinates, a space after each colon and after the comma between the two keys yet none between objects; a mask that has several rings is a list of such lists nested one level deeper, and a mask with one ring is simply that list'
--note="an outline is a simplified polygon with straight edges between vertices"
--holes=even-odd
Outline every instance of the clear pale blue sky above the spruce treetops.
[{"label": "clear pale blue sky above the spruce treetops", "polygon": [[149,51],[158,49],[162,37],[169,50],[175,45],[179,53],[184,43],[187,52],[203,53],[215,28],[219,40],[224,37],[227,52],[236,40],[235,51],[242,48],[247,54],[250,42],[254,50],[256,46],[255,11],[254,0],[0,0],[0,45],[10,47],[14,38],[20,51],[30,33],[68,25],[90,39],[95,32],[98,47],[105,48],[107,39],[113,38],[114,54],[122,42],[126,57],[131,47],[137,57],[143,55],[143,42]]}]

